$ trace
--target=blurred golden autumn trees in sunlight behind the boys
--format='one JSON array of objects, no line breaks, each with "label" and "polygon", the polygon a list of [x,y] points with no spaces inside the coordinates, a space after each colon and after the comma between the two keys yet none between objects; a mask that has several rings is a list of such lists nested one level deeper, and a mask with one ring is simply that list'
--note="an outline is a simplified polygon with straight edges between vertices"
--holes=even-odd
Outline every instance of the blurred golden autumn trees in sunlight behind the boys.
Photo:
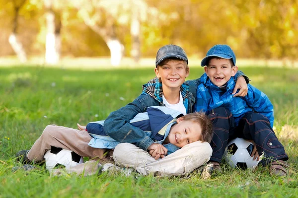
[{"label": "blurred golden autumn trees in sunlight behind the boys", "polygon": [[230,45],[240,64],[298,65],[296,0],[0,0],[0,5],[0,65],[153,65],[166,44],[181,46],[190,65],[199,65],[215,44]]}]

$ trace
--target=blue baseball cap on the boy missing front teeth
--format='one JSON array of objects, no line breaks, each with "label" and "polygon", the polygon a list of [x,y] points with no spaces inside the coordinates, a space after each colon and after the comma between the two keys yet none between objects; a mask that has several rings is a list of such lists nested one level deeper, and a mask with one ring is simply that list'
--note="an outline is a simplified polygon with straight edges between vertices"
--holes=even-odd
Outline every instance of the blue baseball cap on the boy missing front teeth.
[{"label": "blue baseball cap on the boy missing front teeth", "polygon": [[215,45],[206,54],[206,57],[201,61],[201,66],[207,66],[207,61],[210,57],[219,57],[222,59],[232,59],[234,66],[236,65],[236,56],[228,45]]}]

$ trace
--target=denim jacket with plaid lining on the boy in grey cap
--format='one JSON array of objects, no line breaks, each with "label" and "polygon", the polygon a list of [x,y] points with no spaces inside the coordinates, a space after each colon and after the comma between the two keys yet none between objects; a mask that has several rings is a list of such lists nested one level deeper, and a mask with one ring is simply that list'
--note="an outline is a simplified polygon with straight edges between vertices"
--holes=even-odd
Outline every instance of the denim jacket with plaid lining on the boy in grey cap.
[{"label": "denim jacket with plaid lining on the boy in grey cap", "polygon": [[[238,71],[236,74],[238,77],[244,74]],[[237,78],[238,78],[237,77]],[[236,78],[236,79],[237,79]],[[246,82],[248,82],[246,77]],[[196,102],[197,87],[201,83],[200,78],[194,80],[187,80],[181,86],[185,90],[183,98],[183,91],[181,91],[186,113],[192,113],[194,111],[194,104]],[[112,112],[104,122],[104,131],[117,141],[125,139],[127,143],[133,143],[136,146],[147,150],[148,147],[154,143],[154,141],[140,128],[134,127],[130,124],[138,113],[146,112],[150,106],[165,106],[160,98],[162,91],[161,83],[158,82],[158,78],[153,78],[147,84],[143,85],[142,94],[137,97],[133,102],[126,106]],[[187,102],[185,102],[187,101]]]}]

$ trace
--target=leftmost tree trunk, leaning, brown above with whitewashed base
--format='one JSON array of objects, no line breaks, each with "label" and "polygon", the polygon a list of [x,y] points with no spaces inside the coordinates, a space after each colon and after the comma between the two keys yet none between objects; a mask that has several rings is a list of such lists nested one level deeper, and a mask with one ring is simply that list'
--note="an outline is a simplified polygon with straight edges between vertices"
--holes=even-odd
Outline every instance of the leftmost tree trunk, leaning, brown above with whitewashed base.
[{"label": "leftmost tree trunk, leaning, brown above with whitewashed base", "polygon": [[12,33],[9,35],[8,41],[9,44],[11,45],[14,53],[16,54],[17,58],[20,60],[20,62],[24,63],[27,61],[27,55],[26,52],[23,49],[22,43],[18,39],[17,35],[17,25],[18,25],[18,15],[19,15],[19,10],[25,3],[25,0],[23,0],[20,5],[17,5],[15,1],[12,1],[14,5],[14,18],[13,18],[13,29]]}]

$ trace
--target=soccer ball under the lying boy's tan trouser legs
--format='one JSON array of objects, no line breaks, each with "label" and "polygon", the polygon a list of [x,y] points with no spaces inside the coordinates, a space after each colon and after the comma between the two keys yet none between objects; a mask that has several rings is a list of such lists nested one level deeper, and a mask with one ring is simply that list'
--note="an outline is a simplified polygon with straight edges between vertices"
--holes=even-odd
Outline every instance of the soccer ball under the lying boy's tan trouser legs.
[{"label": "soccer ball under the lying boy's tan trouser legs", "polygon": [[83,158],[74,151],[51,146],[51,149],[44,155],[46,169],[52,170],[56,167],[71,168],[84,162]]}]

